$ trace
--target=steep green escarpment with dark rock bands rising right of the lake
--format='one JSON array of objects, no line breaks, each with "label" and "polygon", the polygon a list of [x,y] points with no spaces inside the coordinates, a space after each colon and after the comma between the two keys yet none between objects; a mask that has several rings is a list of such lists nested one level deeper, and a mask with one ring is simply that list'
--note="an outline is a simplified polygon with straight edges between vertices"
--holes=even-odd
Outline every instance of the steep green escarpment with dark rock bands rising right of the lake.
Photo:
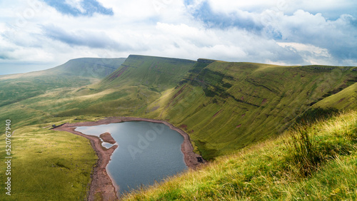
[{"label": "steep green escarpment with dark rock bands rising right of the lake", "polygon": [[357,77],[351,69],[331,66],[207,65],[197,63],[179,86],[149,105],[154,111],[147,114],[190,133],[206,159],[281,133],[310,105]]}]

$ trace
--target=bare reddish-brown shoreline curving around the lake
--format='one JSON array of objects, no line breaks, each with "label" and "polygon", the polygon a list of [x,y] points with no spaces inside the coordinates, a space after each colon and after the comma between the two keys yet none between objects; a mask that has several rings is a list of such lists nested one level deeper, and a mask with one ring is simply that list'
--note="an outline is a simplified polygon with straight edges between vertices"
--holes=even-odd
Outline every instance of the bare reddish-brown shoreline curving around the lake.
[{"label": "bare reddish-brown shoreline curving around the lake", "polygon": [[[92,148],[94,148],[94,150],[96,151],[96,155],[98,155],[98,161],[94,166],[93,173],[91,174],[91,186],[89,190],[88,200],[94,200],[94,197],[97,193],[101,194],[103,200],[119,199],[119,186],[116,185],[114,179],[111,177],[111,175],[109,175],[109,171],[106,170],[106,167],[109,161],[111,160],[111,155],[114,153],[114,150],[118,147],[118,145],[115,144],[109,149],[103,148],[99,137],[94,135],[86,135],[84,133],[78,132],[75,130],[75,127],[104,125],[109,123],[121,123],[126,121],[146,121],[151,123],[164,123],[165,125],[169,126],[171,130],[176,130],[178,133],[180,133],[180,135],[183,136],[181,152],[183,153],[184,162],[186,163],[188,168],[196,169],[202,163],[206,163],[206,160],[202,160],[201,155],[198,155],[193,152],[193,146],[191,144],[188,134],[180,128],[176,128],[174,125],[164,120],[133,117],[111,117],[95,122],[65,123],[64,125],[60,125],[59,127],[56,127],[53,130],[66,131],[89,139],[91,141]],[[201,163],[198,162],[198,158],[200,158]]]}]

